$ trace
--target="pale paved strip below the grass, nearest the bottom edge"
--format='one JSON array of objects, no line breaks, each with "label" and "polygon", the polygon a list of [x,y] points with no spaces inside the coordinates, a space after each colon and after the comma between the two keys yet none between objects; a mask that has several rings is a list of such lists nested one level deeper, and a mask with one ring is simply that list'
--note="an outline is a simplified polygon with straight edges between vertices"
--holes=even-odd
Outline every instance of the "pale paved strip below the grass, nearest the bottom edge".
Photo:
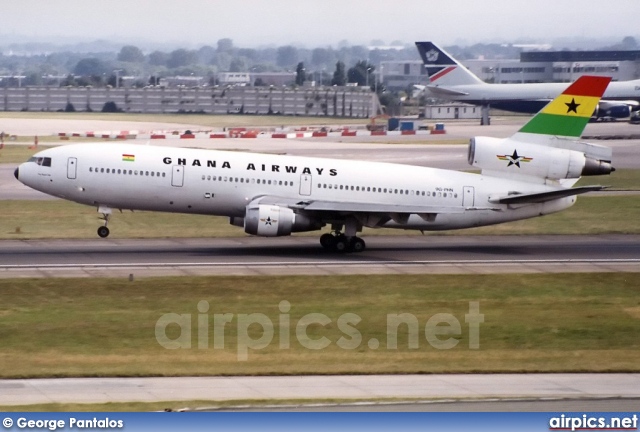
[{"label": "pale paved strip below the grass, nearest the bottom edge", "polygon": [[[639,398],[640,374],[232,376],[0,381],[0,405],[265,399],[588,400],[610,397]],[[638,407],[637,401],[635,407]]]}]

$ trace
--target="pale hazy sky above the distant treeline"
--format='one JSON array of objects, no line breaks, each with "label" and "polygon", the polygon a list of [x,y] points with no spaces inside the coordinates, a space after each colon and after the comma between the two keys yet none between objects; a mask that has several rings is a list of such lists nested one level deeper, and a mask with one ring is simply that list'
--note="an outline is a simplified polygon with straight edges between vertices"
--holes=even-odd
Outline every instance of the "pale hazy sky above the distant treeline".
[{"label": "pale hazy sky above the distant treeline", "polygon": [[1,0],[0,44],[65,39],[238,47],[638,38],[639,0]]}]

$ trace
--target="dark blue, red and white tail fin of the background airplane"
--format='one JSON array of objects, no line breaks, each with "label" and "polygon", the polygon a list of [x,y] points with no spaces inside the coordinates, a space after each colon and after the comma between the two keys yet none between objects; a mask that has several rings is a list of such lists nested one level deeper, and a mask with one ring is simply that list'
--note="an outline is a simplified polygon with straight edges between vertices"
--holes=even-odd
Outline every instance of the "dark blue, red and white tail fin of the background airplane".
[{"label": "dark blue, red and white tail fin of the background airplane", "polygon": [[480,78],[433,42],[416,42],[416,47],[424,62],[431,85],[484,84]]}]

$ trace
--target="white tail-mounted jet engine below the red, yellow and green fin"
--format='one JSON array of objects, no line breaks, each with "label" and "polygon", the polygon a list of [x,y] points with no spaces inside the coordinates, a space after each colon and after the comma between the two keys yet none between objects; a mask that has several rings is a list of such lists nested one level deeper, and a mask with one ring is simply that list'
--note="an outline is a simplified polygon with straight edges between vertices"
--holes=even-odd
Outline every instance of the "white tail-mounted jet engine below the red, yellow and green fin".
[{"label": "white tail-mounted jet engine below the red, yellow and green fin", "polygon": [[582,151],[489,137],[470,140],[468,161],[482,170],[553,180],[614,171],[610,160]]}]

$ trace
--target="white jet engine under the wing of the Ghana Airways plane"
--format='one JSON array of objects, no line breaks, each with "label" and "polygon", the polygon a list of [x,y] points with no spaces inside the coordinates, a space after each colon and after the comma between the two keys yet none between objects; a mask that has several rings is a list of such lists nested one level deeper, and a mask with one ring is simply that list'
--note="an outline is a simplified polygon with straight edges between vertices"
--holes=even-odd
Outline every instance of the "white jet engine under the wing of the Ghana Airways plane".
[{"label": "white jet engine under the wing of the Ghana Airways plane", "polygon": [[323,224],[287,207],[276,205],[249,205],[244,218],[232,218],[232,225],[244,226],[247,234],[280,237],[292,232],[314,231]]}]

